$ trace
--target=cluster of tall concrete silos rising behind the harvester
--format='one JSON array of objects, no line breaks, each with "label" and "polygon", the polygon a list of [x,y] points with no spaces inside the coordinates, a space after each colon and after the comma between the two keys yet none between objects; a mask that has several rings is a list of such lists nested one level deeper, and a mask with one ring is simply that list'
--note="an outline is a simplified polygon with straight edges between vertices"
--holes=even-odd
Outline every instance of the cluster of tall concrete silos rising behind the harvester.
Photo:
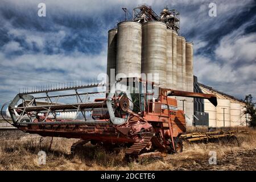
[{"label": "cluster of tall concrete silos rising behind the harvester", "polygon": [[[109,31],[109,79],[110,69],[115,69],[116,78],[141,77],[141,73],[152,73],[154,78],[158,74],[158,80],[147,79],[163,88],[193,92],[193,44],[160,21],[120,22]],[[193,99],[176,99],[192,125]]]}]

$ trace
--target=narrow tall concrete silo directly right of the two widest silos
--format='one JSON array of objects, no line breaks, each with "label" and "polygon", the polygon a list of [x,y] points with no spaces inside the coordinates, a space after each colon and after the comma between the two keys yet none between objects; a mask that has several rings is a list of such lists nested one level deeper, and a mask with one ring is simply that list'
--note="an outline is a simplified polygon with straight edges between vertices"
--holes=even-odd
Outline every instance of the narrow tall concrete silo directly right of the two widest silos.
[{"label": "narrow tall concrete silo directly right of the two widest silos", "polygon": [[174,30],[167,29],[167,65],[166,65],[166,86],[176,89],[177,77],[177,33]]}]

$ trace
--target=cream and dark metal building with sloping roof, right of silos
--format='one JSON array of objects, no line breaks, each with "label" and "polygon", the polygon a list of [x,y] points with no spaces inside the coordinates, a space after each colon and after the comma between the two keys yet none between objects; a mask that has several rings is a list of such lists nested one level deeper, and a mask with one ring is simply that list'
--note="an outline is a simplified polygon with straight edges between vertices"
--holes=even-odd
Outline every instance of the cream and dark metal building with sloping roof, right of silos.
[{"label": "cream and dark metal building with sloping roof, right of silos", "polygon": [[[197,82],[194,76],[194,92],[215,94],[218,105],[214,107],[208,100],[194,99],[194,125],[209,127],[236,127],[246,125],[245,103],[212,87]],[[198,118],[197,114],[208,114],[207,118]],[[197,117],[197,118],[196,118]]]}]

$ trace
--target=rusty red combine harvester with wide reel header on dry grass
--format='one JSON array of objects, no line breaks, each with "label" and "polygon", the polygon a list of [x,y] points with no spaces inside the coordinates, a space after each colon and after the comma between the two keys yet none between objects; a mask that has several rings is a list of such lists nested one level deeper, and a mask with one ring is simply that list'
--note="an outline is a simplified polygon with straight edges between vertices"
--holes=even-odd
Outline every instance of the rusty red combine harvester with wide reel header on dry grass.
[{"label": "rusty red combine harvester with wide reel header on dry grass", "polygon": [[[87,101],[88,96],[100,92],[80,92],[99,86],[105,85],[64,86],[19,93],[9,105],[14,126],[42,137],[80,139],[73,144],[72,151],[77,145],[90,142],[108,147],[126,146],[127,156],[153,150],[171,153],[182,151],[180,135],[186,130],[184,113],[177,109],[177,101],[171,96],[207,98],[217,106],[216,96],[212,94],[160,88],[154,82],[137,77],[116,81],[110,93],[102,92],[105,98]],[[76,102],[58,102],[59,98],[68,100],[69,97],[75,97]],[[68,112],[76,113],[73,119],[58,117]],[[79,114],[81,118],[77,119]]]}]

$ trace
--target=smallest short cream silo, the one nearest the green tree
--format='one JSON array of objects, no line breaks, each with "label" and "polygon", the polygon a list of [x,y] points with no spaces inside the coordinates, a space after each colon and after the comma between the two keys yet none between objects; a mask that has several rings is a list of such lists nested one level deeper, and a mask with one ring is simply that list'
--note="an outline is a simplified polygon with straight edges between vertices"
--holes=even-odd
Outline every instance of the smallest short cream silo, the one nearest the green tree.
[{"label": "smallest short cream silo, the one nearest the green tree", "polygon": [[241,105],[230,103],[230,124],[231,126],[241,125]]}]

